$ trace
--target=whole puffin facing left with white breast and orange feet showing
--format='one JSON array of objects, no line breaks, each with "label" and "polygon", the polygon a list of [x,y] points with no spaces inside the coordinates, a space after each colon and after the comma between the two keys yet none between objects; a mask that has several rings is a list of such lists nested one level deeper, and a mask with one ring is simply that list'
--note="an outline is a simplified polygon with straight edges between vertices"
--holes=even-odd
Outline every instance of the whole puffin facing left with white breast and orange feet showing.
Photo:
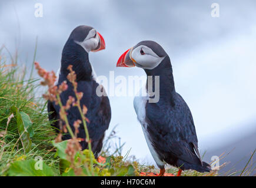
[{"label": "whole puffin facing left with white breast and orange feet showing", "polygon": [[[147,74],[148,84],[135,96],[134,109],[151,155],[160,169],[158,175],[164,176],[165,164],[178,167],[177,176],[188,169],[210,172],[210,164],[203,162],[198,152],[191,111],[175,91],[171,61],[162,46],[154,41],[141,41],[129,48],[118,59],[117,67],[134,66]],[[150,78],[152,89],[149,88]],[[155,95],[152,95],[153,90]]]}]

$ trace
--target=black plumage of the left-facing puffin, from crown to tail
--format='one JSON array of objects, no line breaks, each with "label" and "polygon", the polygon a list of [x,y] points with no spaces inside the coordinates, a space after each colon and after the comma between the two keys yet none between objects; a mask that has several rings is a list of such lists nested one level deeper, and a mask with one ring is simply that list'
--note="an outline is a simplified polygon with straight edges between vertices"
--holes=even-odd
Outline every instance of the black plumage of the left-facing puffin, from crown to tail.
[{"label": "black plumage of the left-facing puffin, from crown to tail", "polygon": [[[154,69],[145,69],[147,76],[159,76],[159,101],[146,103],[147,132],[160,160],[179,169],[209,172],[210,165],[202,162],[194,121],[187,103],[175,92],[171,61],[157,43],[144,43],[157,55],[165,56]],[[159,51],[159,52],[158,52]],[[159,166],[160,169],[164,166]]]}]

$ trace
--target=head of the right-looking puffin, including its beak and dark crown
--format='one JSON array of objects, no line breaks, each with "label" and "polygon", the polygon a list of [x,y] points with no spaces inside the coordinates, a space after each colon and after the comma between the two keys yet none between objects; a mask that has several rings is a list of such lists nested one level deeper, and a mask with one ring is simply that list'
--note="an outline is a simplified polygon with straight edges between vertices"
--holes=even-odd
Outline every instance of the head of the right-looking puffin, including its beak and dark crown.
[{"label": "head of the right-looking puffin, including its beak and dark crown", "polygon": [[87,53],[105,49],[104,38],[91,26],[78,26],[71,32],[69,39],[82,46]]}]

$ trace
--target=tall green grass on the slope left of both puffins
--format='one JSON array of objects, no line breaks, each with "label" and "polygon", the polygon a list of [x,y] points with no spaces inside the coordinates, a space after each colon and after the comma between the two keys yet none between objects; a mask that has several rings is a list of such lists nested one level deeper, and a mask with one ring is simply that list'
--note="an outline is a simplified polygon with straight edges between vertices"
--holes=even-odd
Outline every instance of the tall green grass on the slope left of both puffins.
[{"label": "tall green grass on the slope left of both puffins", "polygon": [[[22,158],[35,159],[41,156],[46,163],[53,166],[56,164],[55,152],[51,151],[51,140],[56,135],[48,121],[45,102],[35,99],[35,90],[38,88],[36,80],[26,80],[26,72],[18,68],[15,59],[1,55],[0,60],[0,176],[5,174],[12,162]],[[7,127],[12,106],[29,115],[33,123],[34,136],[27,153],[19,139],[15,117]]]}]

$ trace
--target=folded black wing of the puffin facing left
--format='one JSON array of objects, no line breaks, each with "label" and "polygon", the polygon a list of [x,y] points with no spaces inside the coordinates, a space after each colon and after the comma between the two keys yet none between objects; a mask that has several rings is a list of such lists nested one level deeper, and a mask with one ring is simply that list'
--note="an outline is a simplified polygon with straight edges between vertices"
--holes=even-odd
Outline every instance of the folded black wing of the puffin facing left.
[{"label": "folded black wing of the puffin facing left", "polygon": [[174,103],[147,103],[147,130],[152,145],[159,157],[170,164],[178,159],[201,164],[199,153],[194,150],[197,135],[191,112],[178,93]]}]

